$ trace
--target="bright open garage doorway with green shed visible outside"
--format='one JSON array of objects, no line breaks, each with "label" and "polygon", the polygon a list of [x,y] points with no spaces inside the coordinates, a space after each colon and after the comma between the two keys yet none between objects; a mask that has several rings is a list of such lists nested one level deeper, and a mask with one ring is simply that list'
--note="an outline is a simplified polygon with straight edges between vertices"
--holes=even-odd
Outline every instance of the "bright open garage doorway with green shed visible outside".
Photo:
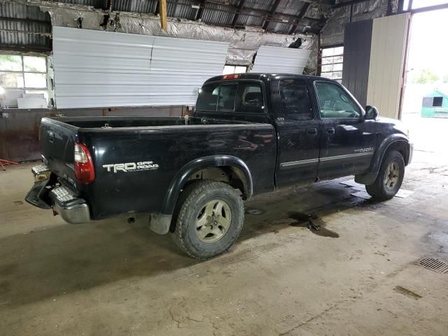
[{"label": "bright open garage doorway with green shed visible outside", "polygon": [[[446,0],[411,2],[412,10],[448,3]],[[405,6],[408,6],[406,1]],[[412,15],[402,120],[409,127],[416,150],[420,151],[446,152],[448,43],[443,36],[448,31],[447,15],[448,8]]]}]

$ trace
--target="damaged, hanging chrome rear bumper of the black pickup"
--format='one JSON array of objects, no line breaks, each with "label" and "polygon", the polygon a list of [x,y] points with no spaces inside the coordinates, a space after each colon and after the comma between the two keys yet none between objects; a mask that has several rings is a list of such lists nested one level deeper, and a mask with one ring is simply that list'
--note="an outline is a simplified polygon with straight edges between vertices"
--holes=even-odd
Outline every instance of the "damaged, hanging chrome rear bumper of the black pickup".
[{"label": "damaged, hanging chrome rear bumper of the black pickup", "polygon": [[[25,200],[41,209],[53,209],[62,219],[70,224],[87,223],[90,221],[90,209],[83,198],[77,197],[65,186],[52,187],[50,179],[42,179],[45,169],[42,166],[33,167],[34,186],[29,190]],[[48,175],[49,176],[49,175]]]}]

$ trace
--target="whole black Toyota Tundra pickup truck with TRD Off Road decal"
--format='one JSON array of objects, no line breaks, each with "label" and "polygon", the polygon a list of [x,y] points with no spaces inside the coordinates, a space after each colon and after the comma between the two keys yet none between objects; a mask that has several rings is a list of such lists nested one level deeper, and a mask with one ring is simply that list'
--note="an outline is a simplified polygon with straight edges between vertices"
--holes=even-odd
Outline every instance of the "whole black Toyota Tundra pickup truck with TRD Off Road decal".
[{"label": "whole black Toyota Tundra pickup truck with TRD Off Road decal", "polygon": [[27,202],[68,223],[148,214],[200,259],[232,246],[255,194],[355,175],[388,200],[412,158],[400,121],[333,80],[288,74],[210,78],[192,116],[43,118],[40,136]]}]

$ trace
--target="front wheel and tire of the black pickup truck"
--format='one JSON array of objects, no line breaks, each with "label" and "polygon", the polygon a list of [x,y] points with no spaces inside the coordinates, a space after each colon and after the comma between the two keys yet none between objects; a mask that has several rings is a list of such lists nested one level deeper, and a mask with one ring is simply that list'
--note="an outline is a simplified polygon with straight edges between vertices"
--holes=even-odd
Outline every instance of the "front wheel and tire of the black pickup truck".
[{"label": "front wheel and tire of the black pickup truck", "polygon": [[[387,174],[388,167],[391,167],[391,165],[393,165],[395,169],[391,168],[392,170],[389,170],[391,173]],[[393,179],[394,182],[392,179],[386,180],[386,176],[395,176],[393,173],[395,170],[398,171],[398,176],[396,179]],[[367,190],[367,193],[372,196],[374,200],[390,200],[396,193],[398,193],[398,190],[400,190],[403,177],[405,177],[405,160],[400,152],[389,151],[386,153],[383,161],[381,162],[377,179],[373,184],[365,186],[365,190]]]}]

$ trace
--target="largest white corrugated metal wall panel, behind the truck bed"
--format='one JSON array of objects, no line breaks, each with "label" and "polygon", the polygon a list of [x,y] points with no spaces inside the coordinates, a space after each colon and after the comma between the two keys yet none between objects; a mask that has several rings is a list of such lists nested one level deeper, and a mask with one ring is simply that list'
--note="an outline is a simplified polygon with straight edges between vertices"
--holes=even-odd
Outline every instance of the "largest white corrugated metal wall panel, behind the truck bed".
[{"label": "largest white corrugated metal wall panel, behind the truck bed", "polygon": [[53,27],[59,109],[193,105],[229,43]]}]

